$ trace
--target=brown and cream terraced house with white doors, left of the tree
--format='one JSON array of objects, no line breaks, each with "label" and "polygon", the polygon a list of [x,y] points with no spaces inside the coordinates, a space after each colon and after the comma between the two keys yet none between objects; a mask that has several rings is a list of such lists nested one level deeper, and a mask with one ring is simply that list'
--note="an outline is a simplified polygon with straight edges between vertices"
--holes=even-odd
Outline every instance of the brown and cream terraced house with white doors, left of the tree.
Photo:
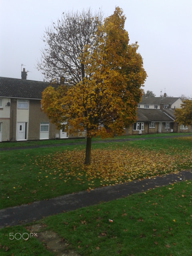
[{"label": "brown and cream terraced house with white doors, left of the tree", "polygon": [[[49,85],[26,79],[0,77],[0,141],[67,138],[41,111],[41,93]],[[78,137],[78,134],[76,134]]]}]

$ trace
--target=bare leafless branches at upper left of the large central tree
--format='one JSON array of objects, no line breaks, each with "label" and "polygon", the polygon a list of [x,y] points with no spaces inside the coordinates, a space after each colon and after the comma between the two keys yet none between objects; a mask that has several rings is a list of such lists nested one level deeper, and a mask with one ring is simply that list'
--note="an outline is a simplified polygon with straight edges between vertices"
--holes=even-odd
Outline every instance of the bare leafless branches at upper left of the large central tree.
[{"label": "bare leafless branches at upper left of the large central tree", "polygon": [[42,40],[45,48],[41,50],[41,59],[37,68],[44,75],[44,80],[76,85],[85,76],[81,57],[89,46],[91,52],[95,32],[103,20],[101,11],[92,14],[88,9],[82,12],[63,12],[57,24],[45,30]]}]

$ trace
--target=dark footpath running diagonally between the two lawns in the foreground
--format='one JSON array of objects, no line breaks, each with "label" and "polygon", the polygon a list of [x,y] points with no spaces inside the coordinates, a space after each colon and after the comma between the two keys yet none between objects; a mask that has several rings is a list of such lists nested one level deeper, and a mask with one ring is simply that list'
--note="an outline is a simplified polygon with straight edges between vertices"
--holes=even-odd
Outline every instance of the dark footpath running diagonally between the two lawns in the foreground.
[{"label": "dark footpath running diagonally between the two lawns in the foreground", "polygon": [[184,170],[177,174],[167,174],[144,180],[135,180],[114,186],[105,186],[90,191],[6,208],[0,210],[0,228],[26,224],[52,214],[72,211],[77,208],[99,204],[100,202],[108,202],[129,196],[130,194],[144,192],[152,188],[184,180],[192,180],[192,170]]}]

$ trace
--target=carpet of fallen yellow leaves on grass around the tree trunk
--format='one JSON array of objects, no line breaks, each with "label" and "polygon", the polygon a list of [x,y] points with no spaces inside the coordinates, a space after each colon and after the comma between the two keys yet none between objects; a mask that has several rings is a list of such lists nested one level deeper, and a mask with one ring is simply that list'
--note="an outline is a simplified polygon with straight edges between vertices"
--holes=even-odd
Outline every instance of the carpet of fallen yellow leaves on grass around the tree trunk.
[{"label": "carpet of fallen yellow leaves on grass around the tree trunk", "polygon": [[172,148],[164,152],[127,146],[108,147],[93,149],[88,166],[83,163],[84,150],[64,150],[59,154],[37,156],[35,162],[41,166],[39,181],[41,177],[52,176],[67,182],[75,177],[79,183],[88,180],[90,188],[93,188],[96,179],[100,180],[100,185],[110,185],[192,168],[191,153],[189,149],[178,152],[178,149]]}]

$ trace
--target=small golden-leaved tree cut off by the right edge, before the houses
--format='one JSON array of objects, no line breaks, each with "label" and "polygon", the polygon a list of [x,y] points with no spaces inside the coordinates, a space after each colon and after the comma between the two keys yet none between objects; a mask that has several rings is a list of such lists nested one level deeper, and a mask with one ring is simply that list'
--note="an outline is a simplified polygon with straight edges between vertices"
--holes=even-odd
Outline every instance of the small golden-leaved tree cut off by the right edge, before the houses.
[{"label": "small golden-leaved tree cut off by the right edge, before the houses", "polygon": [[184,100],[181,108],[175,109],[176,122],[184,125],[192,125],[192,100]]}]

